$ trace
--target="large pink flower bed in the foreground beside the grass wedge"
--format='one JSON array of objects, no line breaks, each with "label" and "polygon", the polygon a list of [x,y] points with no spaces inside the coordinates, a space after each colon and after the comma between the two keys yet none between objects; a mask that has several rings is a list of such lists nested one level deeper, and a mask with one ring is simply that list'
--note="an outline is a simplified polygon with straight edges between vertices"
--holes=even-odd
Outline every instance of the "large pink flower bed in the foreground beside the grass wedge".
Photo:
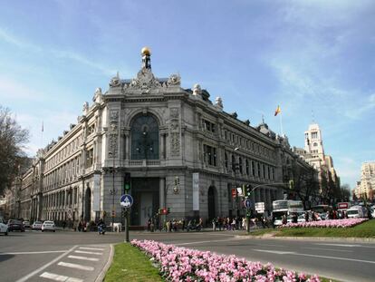
[{"label": "large pink flower bed in the foreground beside the grass wedge", "polygon": [[208,251],[178,248],[156,241],[132,240],[131,244],[143,250],[159,267],[167,281],[320,281],[319,277],[307,277],[293,271],[275,269],[270,263],[262,265],[245,258],[216,255]]}]

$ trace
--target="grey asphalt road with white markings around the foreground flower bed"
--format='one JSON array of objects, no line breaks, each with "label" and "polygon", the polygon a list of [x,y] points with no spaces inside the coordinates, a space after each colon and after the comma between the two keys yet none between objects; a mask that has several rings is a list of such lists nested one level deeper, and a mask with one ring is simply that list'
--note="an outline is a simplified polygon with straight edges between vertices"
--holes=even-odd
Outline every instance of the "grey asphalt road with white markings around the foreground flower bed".
[{"label": "grey asphalt road with white markings around the foreground flower bed", "polygon": [[[235,235],[236,232],[130,232],[130,239],[154,239],[186,248],[234,254],[340,281],[374,281],[373,243],[236,238]],[[95,281],[110,257],[111,244],[123,240],[124,233],[105,236],[71,231],[10,233],[8,237],[0,237],[0,280]]]}]

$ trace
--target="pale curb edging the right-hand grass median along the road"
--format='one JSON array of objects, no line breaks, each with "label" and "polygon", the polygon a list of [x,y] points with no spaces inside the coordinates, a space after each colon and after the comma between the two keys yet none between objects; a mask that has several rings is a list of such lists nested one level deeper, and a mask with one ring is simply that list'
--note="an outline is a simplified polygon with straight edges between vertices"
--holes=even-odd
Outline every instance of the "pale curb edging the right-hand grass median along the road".
[{"label": "pale curb edging the right-hand grass median along the road", "polygon": [[344,241],[344,242],[365,242],[375,243],[375,238],[345,238],[345,237],[274,237],[274,236],[245,236],[236,235],[236,238],[260,238],[260,239],[279,239],[279,240],[304,240],[304,241]]}]

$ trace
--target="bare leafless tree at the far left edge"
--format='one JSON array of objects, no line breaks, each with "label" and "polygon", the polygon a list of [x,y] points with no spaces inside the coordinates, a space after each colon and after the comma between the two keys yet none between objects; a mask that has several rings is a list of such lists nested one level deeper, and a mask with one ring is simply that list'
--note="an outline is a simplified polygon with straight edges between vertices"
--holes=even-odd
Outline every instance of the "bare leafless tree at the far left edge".
[{"label": "bare leafless tree at the far left edge", "polygon": [[0,105],[0,194],[10,187],[23,165],[29,131],[22,129],[8,108]]}]

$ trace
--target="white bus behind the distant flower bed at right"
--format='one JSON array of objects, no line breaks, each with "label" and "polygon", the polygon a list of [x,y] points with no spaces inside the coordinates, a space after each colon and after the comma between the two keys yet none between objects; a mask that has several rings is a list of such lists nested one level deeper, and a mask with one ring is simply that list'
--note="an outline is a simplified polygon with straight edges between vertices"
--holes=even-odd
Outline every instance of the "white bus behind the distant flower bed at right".
[{"label": "white bus behind the distant flower bed at right", "polygon": [[287,217],[287,221],[292,221],[292,214],[297,213],[298,216],[303,215],[303,202],[301,200],[291,200],[291,199],[277,199],[272,202],[273,206],[273,218],[274,225],[283,224],[283,216]]}]

